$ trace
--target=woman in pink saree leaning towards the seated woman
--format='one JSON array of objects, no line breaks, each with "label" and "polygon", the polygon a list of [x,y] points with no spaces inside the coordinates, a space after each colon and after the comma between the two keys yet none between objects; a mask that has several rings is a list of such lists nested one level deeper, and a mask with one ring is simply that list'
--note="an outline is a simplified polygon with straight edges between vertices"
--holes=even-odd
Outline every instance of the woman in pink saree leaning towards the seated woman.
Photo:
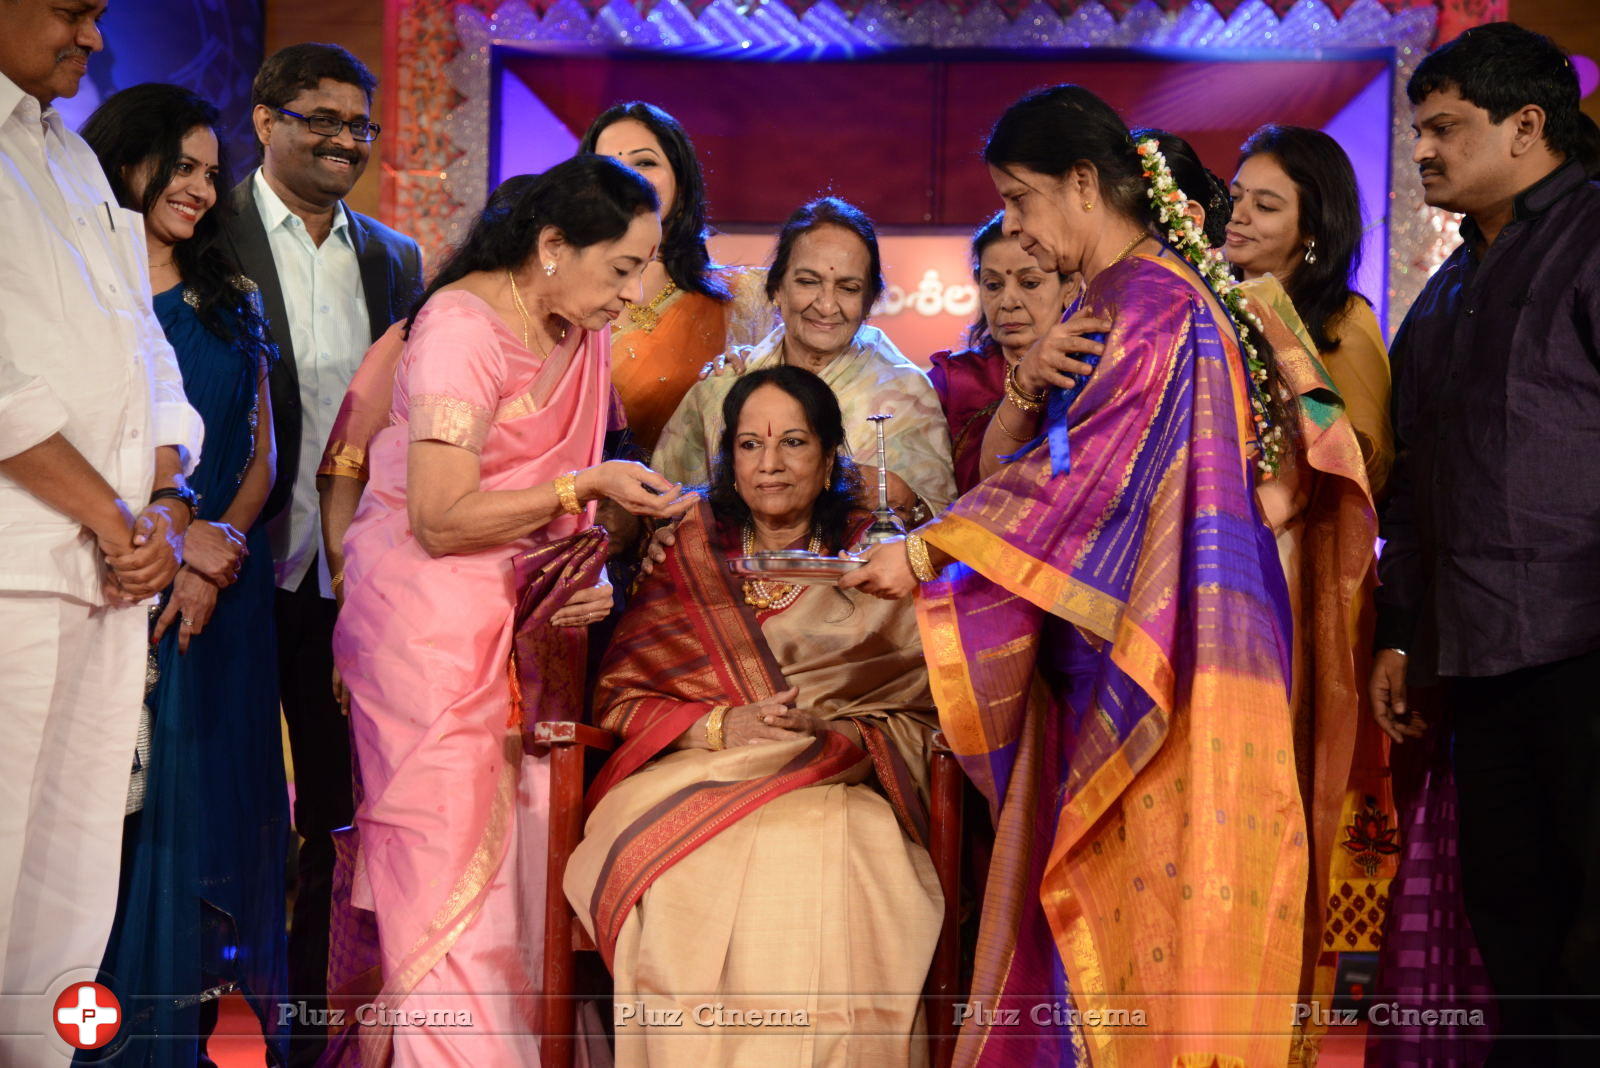
[{"label": "woman in pink saree leaning towards the seated woman", "polygon": [[[606,328],[638,299],[656,206],[611,160],[560,163],[485,209],[411,317],[334,635],[365,787],[355,903],[378,916],[382,959],[366,1065],[538,1063],[547,767],[522,751],[512,633],[525,584],[558,572],[565,595],[597,577],[587,502],[653,516],[693,502],[598,462]],[[568,681],[533,678],[552,702]]]}]

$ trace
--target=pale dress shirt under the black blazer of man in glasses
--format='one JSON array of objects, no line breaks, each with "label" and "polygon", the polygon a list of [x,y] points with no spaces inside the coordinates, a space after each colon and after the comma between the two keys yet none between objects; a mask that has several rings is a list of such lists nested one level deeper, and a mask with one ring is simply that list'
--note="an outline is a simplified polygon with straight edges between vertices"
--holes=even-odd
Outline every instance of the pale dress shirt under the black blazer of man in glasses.
[{"label": "pale dress shirt under the black blazer of man in glasses", "polygon": [[251,192],[283,288],[301,389],[299,470],[294,472],[290,507],[267,528],[272,558],[277,561],[278,587],[285,590],[299,587],[315,558],[322,595],[333,596],[326,553],[317,552],[322,547],[317,465],[355,368],[371,344],[362,267],[350,245],[350,217],[344,205],[333,209],[333,232],[318,246],[259,169]]}]

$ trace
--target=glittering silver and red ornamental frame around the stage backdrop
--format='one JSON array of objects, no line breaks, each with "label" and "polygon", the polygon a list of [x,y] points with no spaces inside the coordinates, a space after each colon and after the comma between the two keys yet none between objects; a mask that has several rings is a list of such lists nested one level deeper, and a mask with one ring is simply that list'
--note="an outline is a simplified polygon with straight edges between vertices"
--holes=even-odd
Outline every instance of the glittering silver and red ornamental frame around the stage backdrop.
[{"label": "glittering silver and red ornamental frame around the stage backdrop", "polygon": [[[1427,50],[1469,26],[1506,18],[1507,0],[387,0],[384,209],[437,259],[488,192],[491,56],[515,42],[699,58],[882,58],[907,48],[1157,50],[1182,59],[1318,59],[1384,50],[1389,123],[1347,123],[1386,137],[1394,176],[1365,190],[1368,224],[1386,230],[1374,299],[1390,328],[1454,246],[1454,219],[1411,181],[1402,86]],[[1198,86],[1197,110],[1210,110]],[[875,104],[875,101],[872,101]],[[864,104],[866,106],[866,104]],[[1186,131],[1181,126],[1181,131]],[[1192,130],[1189,130],[1192,133]],[[699,131],[693,131],[696,136]],[[894,131],[888,131],[894,133]],[[954,142],[952,142],[954,144]],[[965,147],[962,147],[965,150]],[[1224,165],[1230,160],[1224,155]],[[1213,165],[1216,165],[1213,157]],[[918,197],[923,193],[918,193]]]}]

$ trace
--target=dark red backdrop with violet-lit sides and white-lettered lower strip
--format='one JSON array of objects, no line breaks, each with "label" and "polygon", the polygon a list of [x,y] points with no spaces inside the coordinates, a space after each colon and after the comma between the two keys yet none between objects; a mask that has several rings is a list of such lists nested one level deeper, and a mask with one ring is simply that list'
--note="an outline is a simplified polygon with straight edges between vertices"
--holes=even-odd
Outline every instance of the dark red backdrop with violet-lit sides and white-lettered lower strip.
[{"label": "dark red backdrop with violet-lit sides and white-lettered lower strip", "polygon": [[491,62],[490,185],[571,155],[610,104],[659,104],[694,137],[725,262],[766,262],[779,224],[819,193],[867,211],[888,280],[874,321],[922,361],[957,345],[976,310],[968,235],[1000,206],[979,158],[984,134],[1006,104],[1054,82],[1088,86],[1136,126],[1187,137],[1224,181],[1238,144],[1266,122],[1338,136],[1368,193],[1358,285],[1384,313],[1384,51],[1278,61],[906,50],[784,62],[496,45]]}]

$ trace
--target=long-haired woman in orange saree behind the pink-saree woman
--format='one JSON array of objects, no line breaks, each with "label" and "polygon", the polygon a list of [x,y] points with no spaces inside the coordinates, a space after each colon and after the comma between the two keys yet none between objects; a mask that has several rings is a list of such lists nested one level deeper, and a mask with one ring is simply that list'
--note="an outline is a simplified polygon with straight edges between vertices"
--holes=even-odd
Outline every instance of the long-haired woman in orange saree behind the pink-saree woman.
[{"label": "long-haired woman in orange saree behind the pink-saree woman", "polygon": [[706,249],[706,179],[677,118],[630,101],[602,112],[581,152],[627,163],[661,197],[661,256],[645,269],[645,297],[611,331],[611,384],[634,444],[648,459],[701,369],[734,345],[754,345],[776,325],[766,272],[717,267]]}]

